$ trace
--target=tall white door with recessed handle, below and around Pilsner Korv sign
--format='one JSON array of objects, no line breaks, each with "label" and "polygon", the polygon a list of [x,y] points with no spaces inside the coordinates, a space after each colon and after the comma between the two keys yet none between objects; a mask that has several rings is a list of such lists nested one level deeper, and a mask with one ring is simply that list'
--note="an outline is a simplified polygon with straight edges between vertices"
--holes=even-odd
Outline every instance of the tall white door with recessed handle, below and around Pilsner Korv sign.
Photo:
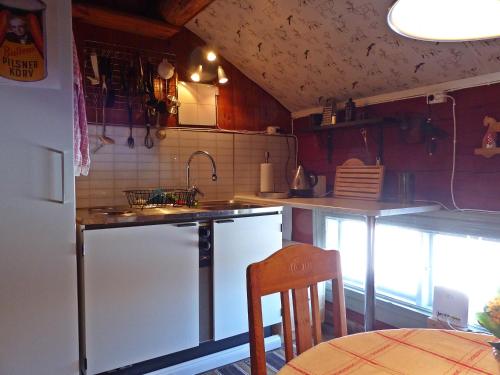
[{"label": "tall white door with recessed handle, below and around Pilsner Korv sign", "polygon": [[0,79],[0,374],[8,375],[78,374],[71,1],[44,3],[47,78]]}]

